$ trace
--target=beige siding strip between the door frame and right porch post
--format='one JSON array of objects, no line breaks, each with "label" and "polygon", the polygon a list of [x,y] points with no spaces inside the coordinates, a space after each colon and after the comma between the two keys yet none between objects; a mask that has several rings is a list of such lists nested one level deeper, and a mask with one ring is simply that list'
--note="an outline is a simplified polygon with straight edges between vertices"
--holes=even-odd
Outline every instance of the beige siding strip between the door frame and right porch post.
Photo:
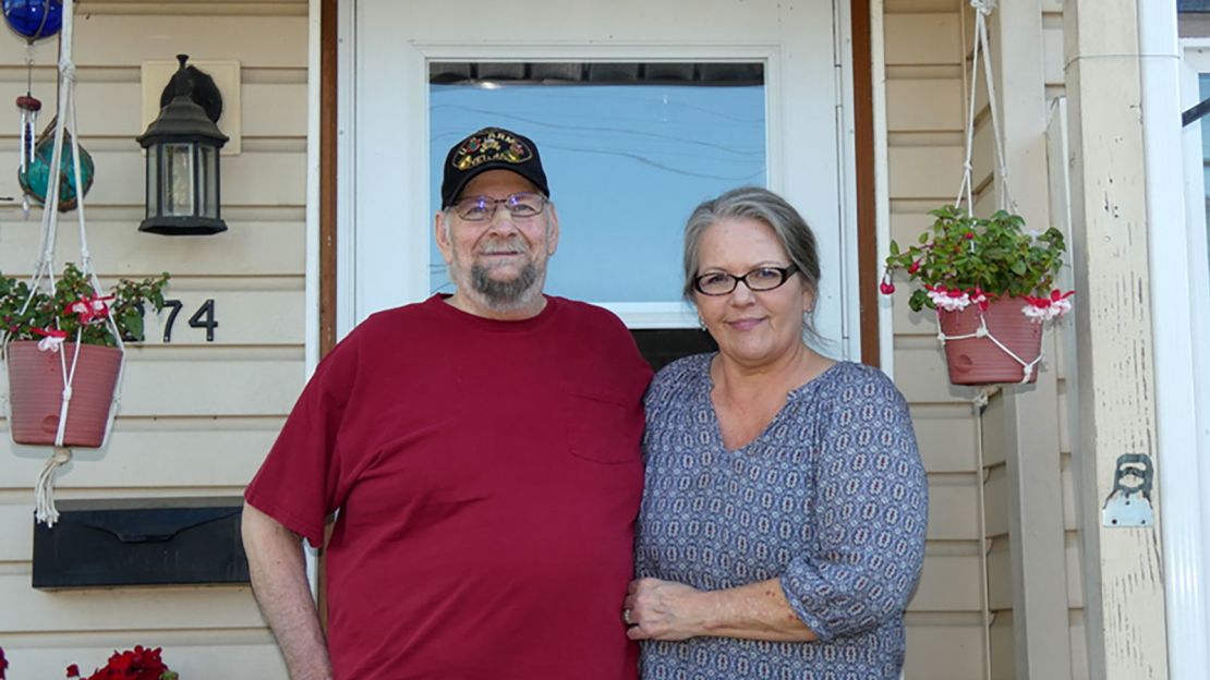
[{"label": "beige siding strip between the door frame and right porch post", "polygon": [[[963,80],[958,2],[885,6],[891,232],[914,243],[962,179]],[[921,172],[928,168],[928,172]],[[976,422],[949,385],[934,315],[894,295],[895,384],[911,403],[929,473],[924,571],[909,607],[908,679],[985,678],[984,542]]]}]

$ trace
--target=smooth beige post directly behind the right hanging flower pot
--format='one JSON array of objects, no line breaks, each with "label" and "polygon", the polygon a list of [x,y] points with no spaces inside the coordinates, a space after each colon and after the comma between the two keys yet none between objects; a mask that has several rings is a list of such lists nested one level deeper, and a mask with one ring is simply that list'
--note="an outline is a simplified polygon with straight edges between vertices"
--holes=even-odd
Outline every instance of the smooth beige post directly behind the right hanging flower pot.
[{"label": "smooth beige post directly behind the right hanging flower pot", "polygon": [[[1050,215],[1042,1],[1001,2],[991,19],[1008,186],[1015,211],[1032,229],[1043,230]],[[1051,330],[1044,336],[1049,365],[1038,381],[1004,390],[998,409],[1003,423],[996,428],[1006,451],[1013,667],[1016,678],[1030,680],[1071,678],[1056,335]]]}]

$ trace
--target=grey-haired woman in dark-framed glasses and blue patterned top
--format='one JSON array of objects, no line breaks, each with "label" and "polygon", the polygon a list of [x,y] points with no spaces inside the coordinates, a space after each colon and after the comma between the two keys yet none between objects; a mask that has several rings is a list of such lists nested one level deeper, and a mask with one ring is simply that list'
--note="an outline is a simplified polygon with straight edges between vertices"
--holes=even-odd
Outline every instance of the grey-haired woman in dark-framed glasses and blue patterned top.
[{"label": "grey-haired woman in dark-framed glasses and blue patterned top", "polygon": [[898,678],[927,488],[908,405],[812,350],[814,236],[764,189],[697,207],[685,295],[719,345],[646,397],[624,601],[643,676]]}]

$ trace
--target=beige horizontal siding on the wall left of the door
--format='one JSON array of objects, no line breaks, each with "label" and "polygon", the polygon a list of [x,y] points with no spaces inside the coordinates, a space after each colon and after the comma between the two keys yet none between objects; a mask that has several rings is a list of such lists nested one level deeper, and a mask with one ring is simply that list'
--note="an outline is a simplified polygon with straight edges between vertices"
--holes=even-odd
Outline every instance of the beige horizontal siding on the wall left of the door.
[{"label": "beige horizontal siding on the wall left of the door", "polygon": [[[168,296],[184,307],[167,344],[166,316],[149,318],[148,342],[128,352],[109,446],[76,451],[58,495],[238,495],[304,381],[307,4],[90,2],[87,10],[76,27],[76,60],[80,137],[97,163],[90,249],[106,281],[172,272]],[[178,52],[241,64],[242,150],[223,157],[230,231],[219,236],[137,231],[139,67]],[[39,45],[33,80],[44,110],[53,108],[53,45]],[[25,77],[21,42],[0,40],[0,98],[23,93]],[[0,128],[0,166],[16,165],[16,126]],[[15,173],[0,173],[0,195],[19,194]],[[30,270],[39,229],[36,213],[25,221],[12,204],[0,207],[0,271]],[[75,213],[60,229],[58,259],[74,259]],[[204,300],[214,300],[219,323],[213,342],[188,324]],[[53,676],[68,663],[93,668],[136,644],[163,646],[184,678],[286,676],[247,588],[33,589],[33,483],[45,456],[13,449],[7,433],[0,440],[0,646],[13,678]]]}]

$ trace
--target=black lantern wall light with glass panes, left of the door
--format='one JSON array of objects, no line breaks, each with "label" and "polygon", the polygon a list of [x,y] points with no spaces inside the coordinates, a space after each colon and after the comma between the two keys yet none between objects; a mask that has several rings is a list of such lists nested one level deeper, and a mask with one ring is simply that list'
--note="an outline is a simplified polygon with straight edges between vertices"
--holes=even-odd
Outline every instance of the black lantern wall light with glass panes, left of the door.
[{"label": "black lantern wall light with glass panes, left of the door", "polygon": [[146,149],[146,219],[139,231],[194,236],[226,231],[219,204],[219,149],[227,137],[214,125],[223,96],[214,79],[185,65],[160,97],[160,116],[138,137]]}]

